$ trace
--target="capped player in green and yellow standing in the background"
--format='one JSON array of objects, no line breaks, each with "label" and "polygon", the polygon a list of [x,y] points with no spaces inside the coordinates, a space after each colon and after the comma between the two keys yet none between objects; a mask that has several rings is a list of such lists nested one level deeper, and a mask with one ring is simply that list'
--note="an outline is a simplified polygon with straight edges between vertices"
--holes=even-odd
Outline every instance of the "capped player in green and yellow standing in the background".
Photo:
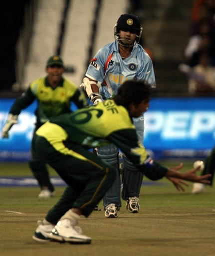
[{"label": "capped player in green and yellow standing in the background", "polygon": [[[2,129],[3,138],[8,137],[8,131],[13,124],[17,123],[17,116],[21,110],[30,105],[34,100],[37,101],[34,132],[51,117],[71,112],[71,102],[74,102],[78,108],[88,104],[84,93],[74,83],[62,76],[64,66],[60,56],[54,55],[49,57],[46,63],[46,72],[47,75],[45,77],[31,82],[23,95],[18,97],[11,106],[7,121]],[[33,152],[29,166],[41,188],[38,196],[52,196],[54,187],[50,182],[46,165]]]}]

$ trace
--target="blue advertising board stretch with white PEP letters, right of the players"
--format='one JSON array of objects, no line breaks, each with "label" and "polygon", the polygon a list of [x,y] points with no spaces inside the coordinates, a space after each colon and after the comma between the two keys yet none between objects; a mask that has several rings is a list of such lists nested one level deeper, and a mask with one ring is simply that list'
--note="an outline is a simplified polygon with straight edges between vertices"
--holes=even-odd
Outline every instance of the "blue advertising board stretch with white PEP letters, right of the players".
[{"label": "blue advertising board stretch with white PEP letters, right of the players", "polygon": [[154,98],[144,119],[155,158],[205,157],[215,146],[215,98]]}]

